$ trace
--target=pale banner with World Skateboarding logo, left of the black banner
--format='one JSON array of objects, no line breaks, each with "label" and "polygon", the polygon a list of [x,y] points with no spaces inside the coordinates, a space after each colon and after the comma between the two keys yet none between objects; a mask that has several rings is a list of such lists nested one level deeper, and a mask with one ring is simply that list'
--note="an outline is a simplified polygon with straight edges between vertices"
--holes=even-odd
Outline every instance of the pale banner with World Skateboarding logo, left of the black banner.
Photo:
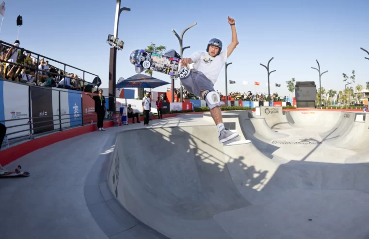
[{"label": "pale banner with World Skateboarding logo, left of the black banner", "polygon": [[[2,122],[6,127],[27,124],[29,122],[29,104],[28,104],[28,85],[19,85],[12,82],[0,81],[0,120],[11,120]],[[51,99],[50,99],[51,102]],[[16,120],[27,118],[25,120]],[[7,128],[6,134],[28,130],[30,125]],[[30,131],[24,131],[10,135],[8,138],[22,137],[30,134]]]}]

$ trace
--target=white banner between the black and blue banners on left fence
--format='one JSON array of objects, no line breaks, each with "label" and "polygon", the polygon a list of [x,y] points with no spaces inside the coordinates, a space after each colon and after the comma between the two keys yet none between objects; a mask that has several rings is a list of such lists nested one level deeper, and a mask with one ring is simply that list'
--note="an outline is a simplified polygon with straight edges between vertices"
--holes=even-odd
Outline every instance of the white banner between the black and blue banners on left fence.
[{"label": "white banner between the black and blue banners on left fence", "polygon": [[[67,89],[53,89],[52,90],[52,114],[54,119],[54,130],[60,129],[59,123],[59,94],[60,94],[60,110],[62,119],[62,128],[70,126],[68,90]],[[63,120],[64,119],[64,120]]]}]

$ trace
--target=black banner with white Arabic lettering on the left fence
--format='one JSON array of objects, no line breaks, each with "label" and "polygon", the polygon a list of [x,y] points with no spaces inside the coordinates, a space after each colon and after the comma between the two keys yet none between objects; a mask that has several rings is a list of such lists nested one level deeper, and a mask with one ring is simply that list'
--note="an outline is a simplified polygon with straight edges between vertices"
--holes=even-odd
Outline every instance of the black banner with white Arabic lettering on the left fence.
[{"label": "black banner with white Arabic lettering on the left fence", "polygon": [[51,91],[48,88],[31,87],[33,134],[54,130]]}]

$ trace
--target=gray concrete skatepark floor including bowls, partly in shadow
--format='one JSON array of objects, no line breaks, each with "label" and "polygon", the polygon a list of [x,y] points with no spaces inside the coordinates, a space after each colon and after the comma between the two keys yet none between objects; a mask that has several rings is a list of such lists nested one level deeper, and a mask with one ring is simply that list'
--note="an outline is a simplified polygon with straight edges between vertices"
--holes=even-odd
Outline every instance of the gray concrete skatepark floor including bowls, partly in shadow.
[{"label": "gray concrete skatepark floor including bowls, partly in shadow", "polygon": [[369,120],[265,108],[223,113],[240,133],[224,145],[209,114],[183,115],[26,155],[6,168],[31,177],[0,179],[2,236],[369,238]]}]

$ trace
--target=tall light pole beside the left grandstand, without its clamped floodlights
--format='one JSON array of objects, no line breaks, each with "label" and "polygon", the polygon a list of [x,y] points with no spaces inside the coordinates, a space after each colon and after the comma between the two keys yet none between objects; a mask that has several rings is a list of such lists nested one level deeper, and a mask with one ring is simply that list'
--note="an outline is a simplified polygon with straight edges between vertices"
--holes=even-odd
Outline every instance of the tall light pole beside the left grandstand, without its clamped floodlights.
[{"label": "tall light pole beside the left grandstand, without its clamped floodlights", "polygon": [[[114,33],[113,39],[118,37],[118,26],[119,26],[119,16],[123,11],[130,12],[130,8],[128,7],[120,7],[120,1],[116,0],[116,10],[115,10],[115,20],[114,20]],[[110,57],[109,57],[109,96],[114,97],[113,101],[109,101],[109,109],[115,112],[116,104],[115,104],[115,85],[116,85],[116,51],[117,48],[112,47],[110,49]]]}]

